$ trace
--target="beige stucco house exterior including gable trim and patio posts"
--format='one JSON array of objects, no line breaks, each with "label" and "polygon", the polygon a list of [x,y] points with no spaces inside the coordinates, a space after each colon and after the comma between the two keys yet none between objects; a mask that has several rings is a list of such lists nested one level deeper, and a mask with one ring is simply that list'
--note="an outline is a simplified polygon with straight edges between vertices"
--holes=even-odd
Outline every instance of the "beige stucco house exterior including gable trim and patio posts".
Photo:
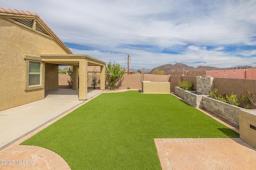
[{"label": "beige stucco house exterior including gable trim and patio posts", "polygon": [[[32,20],[33,27],[30,28],[14,19]],[[45,33],[38,31],[35,24],[39,25]],[[73,89],[78,89],[77,64],[80,64],[79,99],[87,99],[87,83],[85,83],[87,74],[85,73],[88,60],[79,59],[79,56],[76,60],[78,63],[66,59],[63,63],[60,57],[57,57],[60,59],[57,63],[43,59],[41,55],[73,54],[37,14],[31,16],[0,12],[0,30],[0,110],[44,99],[45,91],[58,89],[58,65],[62,64],[73,65],[75,68]],[[91,57],[90,60],[94,58]],[[100,63],[98,65],[104,67],[103,61],[95,60],[96,62],[90,64]],[[41,84],[39,86],[28,86],[29,61],[41,63]],[[103,78],[105,77],[102,77],[102,80]]]}]

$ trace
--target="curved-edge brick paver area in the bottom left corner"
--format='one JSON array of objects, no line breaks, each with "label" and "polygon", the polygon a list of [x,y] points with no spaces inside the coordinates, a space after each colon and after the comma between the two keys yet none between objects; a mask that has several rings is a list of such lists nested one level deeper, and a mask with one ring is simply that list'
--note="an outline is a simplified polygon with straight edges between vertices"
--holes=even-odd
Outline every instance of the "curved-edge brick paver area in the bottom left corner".
[{"label": "curved-edge brick paver area in the bottom left corner", "polygon": [[36,146],[17,145],[0,151],[0,170],[70,170],[55,152]]}]

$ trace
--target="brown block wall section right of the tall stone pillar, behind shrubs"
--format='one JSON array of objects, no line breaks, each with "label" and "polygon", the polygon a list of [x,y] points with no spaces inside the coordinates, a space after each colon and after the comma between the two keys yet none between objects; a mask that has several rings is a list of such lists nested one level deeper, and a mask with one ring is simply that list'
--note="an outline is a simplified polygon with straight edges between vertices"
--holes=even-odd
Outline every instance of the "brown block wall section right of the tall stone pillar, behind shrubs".
[{"label": "brown block wall section right of the tall stone pillar, behind shrubs", "polygon": [[[244,103],[240,99],[240,96],[246,96],[246,91],[249,91],[256,102],[256,80],[254,79],[243,79],[243,78],[214,78],[214,88],[218,89],[219,93],[231,95],[237,94],[240,105],[244,107]],[[251,104],[250,109],[256,109]]]}]

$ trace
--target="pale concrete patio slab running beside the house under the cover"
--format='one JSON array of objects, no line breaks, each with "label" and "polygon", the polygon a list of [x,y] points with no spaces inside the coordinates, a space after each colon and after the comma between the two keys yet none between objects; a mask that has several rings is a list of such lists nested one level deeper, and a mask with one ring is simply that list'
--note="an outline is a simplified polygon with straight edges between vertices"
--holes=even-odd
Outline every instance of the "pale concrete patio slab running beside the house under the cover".
[{"label": "pale concrete patio slab running beside the house under the cover", "polygon": [[[87,100],[102,92],[88,89]],[[84,103],[78,94],[79,90],[51,90],[43,100],[0,111],[0,150]]]}]

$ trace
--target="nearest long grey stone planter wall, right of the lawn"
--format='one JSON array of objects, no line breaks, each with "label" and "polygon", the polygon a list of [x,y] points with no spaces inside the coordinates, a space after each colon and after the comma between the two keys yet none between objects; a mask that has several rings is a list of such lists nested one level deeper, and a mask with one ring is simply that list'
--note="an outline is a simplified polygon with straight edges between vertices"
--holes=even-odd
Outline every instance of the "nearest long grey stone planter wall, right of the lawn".
[{"label": "nearest long grey stone planter wall, right of the lawn", "polygon": [[234,106],[220,100],[216,100],[207,96],[203,96],[203,108],[214,113],[223,119],[239,126],[239,110],[242,107]]}]

